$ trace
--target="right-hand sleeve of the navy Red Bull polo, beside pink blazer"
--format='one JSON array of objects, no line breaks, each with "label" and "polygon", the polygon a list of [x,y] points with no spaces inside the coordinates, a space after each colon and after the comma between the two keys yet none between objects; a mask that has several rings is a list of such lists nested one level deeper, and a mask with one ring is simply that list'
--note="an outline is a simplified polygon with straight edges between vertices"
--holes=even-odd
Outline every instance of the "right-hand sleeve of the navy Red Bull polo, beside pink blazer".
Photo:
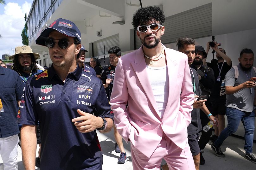
[{"label": "right-hand sleeve of the navy Red Bull polo, beside pink blazer", "polygon": [[113,118],[114,114],[112,112],[110,103],[107,98],[106,91],[105,91],[102,83],[100,85],[100,91],[99,91],[98,96],[99,97],[97,98],[95,108],[96,108],[99,116],[102,118],[106,118],[106,117]]}]

